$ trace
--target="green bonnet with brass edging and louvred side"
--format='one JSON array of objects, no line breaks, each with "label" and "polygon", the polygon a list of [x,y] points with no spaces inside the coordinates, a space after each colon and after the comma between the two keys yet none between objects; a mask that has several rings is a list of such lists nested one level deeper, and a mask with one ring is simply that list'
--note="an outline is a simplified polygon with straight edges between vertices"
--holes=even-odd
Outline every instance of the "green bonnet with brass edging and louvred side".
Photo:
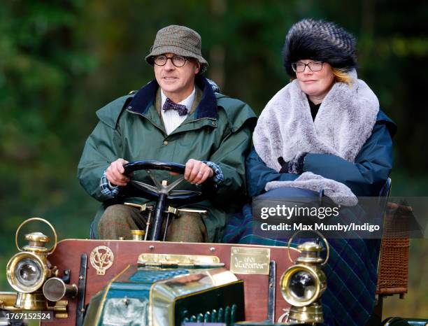
[{"label": "green bonnet with brass edging and louvred side", "polygon": [[[227,281],[220,281],[223,274]],[[216,281],[217,277],[217,281]],[[173,326],[244,319],[243,281],[224,269],[127,267],[94,295],[85,326]]]}]

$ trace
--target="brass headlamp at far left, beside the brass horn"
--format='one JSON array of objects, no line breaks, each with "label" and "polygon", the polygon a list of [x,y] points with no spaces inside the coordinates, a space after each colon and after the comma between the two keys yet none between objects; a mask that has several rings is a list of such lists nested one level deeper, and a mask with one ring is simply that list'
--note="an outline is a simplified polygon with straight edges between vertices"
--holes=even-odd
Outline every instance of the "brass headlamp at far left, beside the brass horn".
[{"label": "brass headlamp at far left, beside the brass horn", "polygon": [[[31,232],[25,235],[28,241],[27,246],[20,248],[18,238],[20,229],[28,222],[38,220],[45,222],[55,236],[55,243],[52,248],[46,248],[49,243],[49,236],[41,232]],[[10,286],[17,291],[15,308],[24,310],[47,309],[46,302],[41,287],[47,278],[57,276],[57,269],[52,268],[47,257],[57,246],[57,233],[50,222],[42,218],[29,218],[22,222],[15,234],[15,244],[20,253],[10,258],[6,267],[6,276]]]}]

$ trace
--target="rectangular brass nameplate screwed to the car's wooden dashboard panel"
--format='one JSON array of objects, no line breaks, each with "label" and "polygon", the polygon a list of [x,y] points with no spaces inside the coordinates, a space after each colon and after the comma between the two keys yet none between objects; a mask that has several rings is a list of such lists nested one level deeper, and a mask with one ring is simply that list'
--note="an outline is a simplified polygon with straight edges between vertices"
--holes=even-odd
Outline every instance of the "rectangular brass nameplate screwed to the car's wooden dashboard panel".
[{"label": "rectangular brass nameplate screwed to the car's wooden dashboard panel", "polygon": [[230,271],[236,274],[269,275],[271,250],[269,248],[232,247]]}]

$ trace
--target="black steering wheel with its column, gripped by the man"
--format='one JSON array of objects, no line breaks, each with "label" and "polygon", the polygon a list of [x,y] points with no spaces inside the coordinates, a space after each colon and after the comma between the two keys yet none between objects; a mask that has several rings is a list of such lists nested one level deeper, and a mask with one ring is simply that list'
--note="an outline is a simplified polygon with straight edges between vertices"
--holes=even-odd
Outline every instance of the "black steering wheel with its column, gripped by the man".
[{"label": "black steering wheel with its column, gripped by the man", "polygon": [[[130,162],[124,164],[123,167],[124,174],[128,176],[134,171],[145,170],[155,184],[154,186],[148,185],[147,183],[137,180],[131,180],[129,182],[130,186],[138,191],[138,194],[142,194],[141,197],[157,201],[155,206],[155,220],[150,232],[150,240],[152,241],[159,240],[162,223],[164,221],[164,211],[167,204],[190,204],[201,201],[204,198],[201,191],[173,190],[184,180],[183,174],[185,172],[185,166],[183,164],[150,160]],[[159,183],[159,180],[157,180],[151,170],[175,172],[182,176],[173,181],[170,185],[166,185],[164,182]],[[168,220],[166,224],[168,224]]]}]

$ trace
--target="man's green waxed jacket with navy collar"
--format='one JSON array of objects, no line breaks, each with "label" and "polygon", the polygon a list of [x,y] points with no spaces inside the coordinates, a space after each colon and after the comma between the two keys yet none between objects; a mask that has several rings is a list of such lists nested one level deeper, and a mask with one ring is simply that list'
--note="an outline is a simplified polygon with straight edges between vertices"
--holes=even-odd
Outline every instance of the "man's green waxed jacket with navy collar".
[{"label": "man's green waxed jacket with navy collar", "polygon": [[[209,241],[220,241],[227,216],[234,213],[245,195],[245,156],[250,150],[256,115],[247,104],[213,92],[203,76],[195,80],[201,99],[194,111],[171,134],[167,135],[155,98],[159,85],[156,80],[136,94],[120,97],[97,111],[99,122],[85,143],[78,164],[80,184],[103,205],[94,220],[97,225],[106,206],[124,201],[123,197],[109,199],[101,194],[100,179],[111,162],[122,157],[136,160],[162,160],[185,164],[187,160],[211,161],[218,164],[224,180],[206,201],[186,207],[207,208],[204,222]],[[155,172],[158,180],[171,183],[178,178],[166,171]],[[134,175],[136,180],[152,184],[145,171]],[[183,181],[176,189],[196,190]],[[141,198],[126,201],[143,203]]]}]

